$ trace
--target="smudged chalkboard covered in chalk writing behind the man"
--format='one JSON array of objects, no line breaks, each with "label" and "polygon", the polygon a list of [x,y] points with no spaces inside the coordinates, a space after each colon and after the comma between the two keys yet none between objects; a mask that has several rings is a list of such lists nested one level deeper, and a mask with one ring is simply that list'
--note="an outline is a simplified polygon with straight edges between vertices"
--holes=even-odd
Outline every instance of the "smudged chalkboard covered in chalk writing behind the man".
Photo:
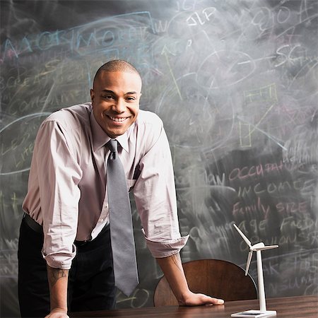
[{"label": "smudged chalkboard covered in chalk writing behind the man", "polygon": [[[316,0],[1,1],[1,317],[18,317],[21,204],[40,122],[90,100],[105,61],[143,77],[141,108],[170,141],[182,261],[245,267],[264,251],[267,297],[318,293]],[[117,307],[153,305],[161,275],[133,203],[140,285]],[[250,273],[257,279],[255,258]]]}]

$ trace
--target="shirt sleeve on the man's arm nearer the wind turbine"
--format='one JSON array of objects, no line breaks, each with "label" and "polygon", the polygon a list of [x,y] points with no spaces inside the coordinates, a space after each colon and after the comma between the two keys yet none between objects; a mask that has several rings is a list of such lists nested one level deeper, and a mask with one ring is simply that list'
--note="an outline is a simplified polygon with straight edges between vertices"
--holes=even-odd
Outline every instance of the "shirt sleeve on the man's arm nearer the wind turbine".
[{"label": "shirt sleeve on the man's arm nearer the wind turbine", "polygon": [[153,257],[169,257],[179,252],[189,237],[181,237],[179,232],[170,146],[158,117],[142,132],[147,151],[139,162],[134,198],[148,249]]}]

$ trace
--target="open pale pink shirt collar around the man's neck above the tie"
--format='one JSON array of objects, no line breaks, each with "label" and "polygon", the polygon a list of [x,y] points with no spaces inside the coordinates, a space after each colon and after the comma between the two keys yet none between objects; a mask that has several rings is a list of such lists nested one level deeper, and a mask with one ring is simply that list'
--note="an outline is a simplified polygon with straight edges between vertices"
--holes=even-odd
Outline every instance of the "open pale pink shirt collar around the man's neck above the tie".
[{"label": "open pale pink shirt collar around the man's neck above the tie", "polygon": [[[90,126],[92,127],[93,151],[95,152],[105,146],[108,141],[110,141],[110,136],[108,136],[105,131],[102,130],[102,127],[98,124],[98,122],[96,122],[93,110],[90,112]],[[134,124],[132,126],[134,126]],[[128,130],[131,130],[131,126]],[[128,153],[129,147],[127,131],[123,135],[118,136],[116,139],[120,146],[122,146],[122,148]]]}]

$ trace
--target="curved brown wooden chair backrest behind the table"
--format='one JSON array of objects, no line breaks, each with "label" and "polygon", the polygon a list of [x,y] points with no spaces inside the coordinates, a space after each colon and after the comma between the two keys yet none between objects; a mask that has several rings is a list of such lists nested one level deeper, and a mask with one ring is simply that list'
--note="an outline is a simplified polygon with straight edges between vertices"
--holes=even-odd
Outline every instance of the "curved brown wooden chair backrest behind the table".
[{"label": "curved brown wooden chair backrest behind the table", "polygon": [[[257,299],[253,278],[240,266],[220,259],[200,259],[182,264],[189,288],[225,301]],[[154,305],[178,305],[165,276],[155,288]]]}]

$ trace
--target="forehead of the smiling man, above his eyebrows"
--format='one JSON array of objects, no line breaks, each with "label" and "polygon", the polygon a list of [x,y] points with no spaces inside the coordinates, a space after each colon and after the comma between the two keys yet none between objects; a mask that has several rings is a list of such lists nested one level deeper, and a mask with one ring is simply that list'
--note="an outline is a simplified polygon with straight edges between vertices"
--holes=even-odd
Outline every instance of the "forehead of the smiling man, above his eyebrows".
[{"label": "forehead of the smiling man, above his eyebrows", "polygon": [[116,88],[118,90],[141,92],[141,78],[138,73],[124,71],[101,71],[95,78],[94,86],[100,89]]}]

